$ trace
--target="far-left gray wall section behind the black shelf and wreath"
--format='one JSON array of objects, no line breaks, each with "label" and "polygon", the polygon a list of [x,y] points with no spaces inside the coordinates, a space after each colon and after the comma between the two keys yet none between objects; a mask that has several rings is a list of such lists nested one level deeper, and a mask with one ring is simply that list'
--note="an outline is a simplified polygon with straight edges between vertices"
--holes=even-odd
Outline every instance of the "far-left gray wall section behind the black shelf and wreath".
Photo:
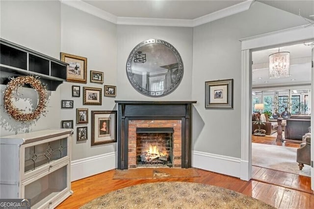
[{"label": "far-left gray wall section behind the black shelf and wreath", "polygon": [[[37,52],[59,57],[60,1],[0,1],[0,36]],[[46,117],[32,123],[21,123],[10,118],[3,109],[3,91],[0,85],[0,135],[38,131],[60,127],[60,90],[48,91],[49,106]],[[22,89],[22,88],[21,88]],[[36,104],[37,93],[23,89],[23,100],[28,106]]]}]

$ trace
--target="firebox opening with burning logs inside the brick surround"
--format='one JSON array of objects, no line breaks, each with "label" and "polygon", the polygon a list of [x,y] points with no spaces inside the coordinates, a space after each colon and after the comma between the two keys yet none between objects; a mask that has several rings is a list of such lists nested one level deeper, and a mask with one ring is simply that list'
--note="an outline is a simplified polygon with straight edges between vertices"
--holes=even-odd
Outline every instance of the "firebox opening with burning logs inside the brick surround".
[{"label": "firebox opening with burning logs inside the brick surround", "polygon": [[136,129],[136,167],[173,167],[173,128]]}]

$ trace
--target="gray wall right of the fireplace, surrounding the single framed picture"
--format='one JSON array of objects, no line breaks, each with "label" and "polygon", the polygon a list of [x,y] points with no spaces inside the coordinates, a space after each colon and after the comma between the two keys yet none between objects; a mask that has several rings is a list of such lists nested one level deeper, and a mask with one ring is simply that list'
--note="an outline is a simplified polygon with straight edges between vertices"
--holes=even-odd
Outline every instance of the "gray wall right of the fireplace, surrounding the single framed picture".
[{"label": "gray wall right of the fireplace, surrounding the single framed picture", "polygon": [[[304,24],[297,15],[254,2],[251,8],[193,28],[192,99],[195,151],[241,157],[239,39]],[[234,79],[234,109],[205,109],[205,81]]]}]

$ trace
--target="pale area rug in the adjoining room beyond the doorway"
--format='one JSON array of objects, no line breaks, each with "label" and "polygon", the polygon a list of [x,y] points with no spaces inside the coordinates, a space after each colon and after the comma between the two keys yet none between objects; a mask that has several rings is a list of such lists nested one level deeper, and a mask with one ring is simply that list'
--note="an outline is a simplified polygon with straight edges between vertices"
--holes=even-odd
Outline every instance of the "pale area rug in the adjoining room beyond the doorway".
[{"label": "pale area rug in the adjoining room beyond the doorway", "polygon": [[294,147],[252,143],[252,165],[311,177],[311,166],[300,171]]}]

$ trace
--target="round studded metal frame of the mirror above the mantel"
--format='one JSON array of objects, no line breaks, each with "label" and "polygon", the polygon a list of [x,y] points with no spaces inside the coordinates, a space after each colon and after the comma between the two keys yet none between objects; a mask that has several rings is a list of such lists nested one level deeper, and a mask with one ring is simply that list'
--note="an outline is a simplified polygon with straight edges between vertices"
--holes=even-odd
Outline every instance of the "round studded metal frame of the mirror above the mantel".
[{"label": "round studded metal frame of the mirror above the mantel", "polygon": [[[140,86],[136,81],[135,79],[133,78],[133,75],[132,75],[132,69],[131,69],[131,64],[132,64],[132,61],[134,59],[134,56],[136,54],[136,52],[140,51],[141,47],[147,45],[147,44],[162,44],[163,46],[169,48],[173,54],[176,56],[177,60],[178,60],[178,65],[179,65],[179,70],[178,70],[178,77],[177,79],[175,80],[175,82],[173,82],[169,88],[167,89],[164,89],[162,92],[156,92],[156,91],[150,91],[146,88],[143,88],[142,86]],[[182,61],[182,58],[181,58],[181,55],[180,53],[177,51],[177,49],[172,46],[171,44],[169,44],[168,42],[166,41],[163,41],[163,40],[160,40],[160,39],[149,39],[149,40],[146,40],[146,41],[143,41],[141,43],[139,43],[138,45],[136,45],[136,47],[134,47],[134,49],[131,51],[129,57],[128,57],[128,60],[127,60],[127,76],[128,76],[128,79],[131,83],[131,85],[138,91],[140,92],[141,94],[144,94],[146,96],[150,96],[150,97],[163,97],[165,95],[168,95],[170,94],[171,92],[173,92],[177,87],[178,85],[180,84],[182,78],[183,78],[183,61]],[[158,94],[159,93],[159,94]]]}]

